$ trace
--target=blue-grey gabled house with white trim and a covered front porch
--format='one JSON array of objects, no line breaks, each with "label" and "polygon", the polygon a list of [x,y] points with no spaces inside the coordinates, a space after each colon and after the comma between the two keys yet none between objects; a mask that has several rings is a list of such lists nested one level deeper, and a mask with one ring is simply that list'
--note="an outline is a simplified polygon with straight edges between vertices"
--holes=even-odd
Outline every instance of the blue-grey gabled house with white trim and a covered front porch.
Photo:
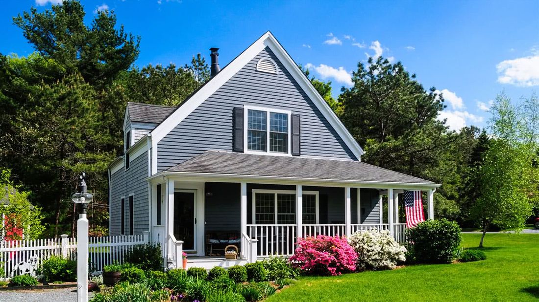
[{"label": "blue-grey gabled house with white trim and a covered front porch", "polygon": [[178,107],[127,104],[125,154],[109,166],[110,234],[150,231],[169,267],[182,251],[204,266],[228,244],[251,262],[291,255],[308,235],[378,228],[403,240],[404,189],[427,192],[432,219],[439,184],[362,162],[363,149],[270,32],[222,70],[217,50],[211,80]]}]

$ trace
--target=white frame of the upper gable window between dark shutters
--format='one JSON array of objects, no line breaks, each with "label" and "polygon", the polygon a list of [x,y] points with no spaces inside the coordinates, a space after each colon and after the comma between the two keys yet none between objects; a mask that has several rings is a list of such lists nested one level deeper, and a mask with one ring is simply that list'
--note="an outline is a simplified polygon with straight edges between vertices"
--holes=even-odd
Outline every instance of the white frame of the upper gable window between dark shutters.
[{"label": "white frame of the upper gable window between dark shutters", "polygon": [[[248,122],[249,122],[249,110],[258,110],[258,111],[265,111],[266,112],[266,150],[260,151],[260,150],[249,150],[247,148],[247,132],[248,130]],[[284,113],[288,115],[288,133],[287,133],[287,149],[286,153],[284,152],[271,152],[269,151],[269,113]],[[271,107],[259,107],[259,106],[248,106],[245,105],[243,109],[243,150],[244,153],[250,153],[250,154],[265,154],[265,155],[278,155],[278,156],[292,156],[292,111],[290,110],[282,110],[282,109],[275,109]]]}]

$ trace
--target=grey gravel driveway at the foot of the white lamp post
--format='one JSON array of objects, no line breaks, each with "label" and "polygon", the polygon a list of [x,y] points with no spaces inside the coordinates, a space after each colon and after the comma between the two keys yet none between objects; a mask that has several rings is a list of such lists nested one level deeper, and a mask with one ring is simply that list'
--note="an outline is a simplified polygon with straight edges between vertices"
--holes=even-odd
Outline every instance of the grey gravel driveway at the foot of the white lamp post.
[{"label": "grey gravel driveway at the foot of the white lamp post", "polygon": [[[0,291],[1,302],[68,302],[77,301],[77,289],[69,287],[67,289],[53,290],[20,290],[20,291]],[[88,293],[92,298],[93,293]]]}]

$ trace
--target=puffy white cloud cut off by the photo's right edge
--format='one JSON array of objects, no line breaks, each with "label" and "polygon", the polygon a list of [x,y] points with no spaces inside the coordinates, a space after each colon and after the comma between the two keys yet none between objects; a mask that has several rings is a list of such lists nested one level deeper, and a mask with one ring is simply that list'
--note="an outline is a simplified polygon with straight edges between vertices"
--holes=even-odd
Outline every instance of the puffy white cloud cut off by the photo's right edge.
[{"label": "puffy white cloud cut off by the photo's right edge", "polygon": [[521,87],[539,85],[539,54],[505,60],[496,65],[498,83]]}]

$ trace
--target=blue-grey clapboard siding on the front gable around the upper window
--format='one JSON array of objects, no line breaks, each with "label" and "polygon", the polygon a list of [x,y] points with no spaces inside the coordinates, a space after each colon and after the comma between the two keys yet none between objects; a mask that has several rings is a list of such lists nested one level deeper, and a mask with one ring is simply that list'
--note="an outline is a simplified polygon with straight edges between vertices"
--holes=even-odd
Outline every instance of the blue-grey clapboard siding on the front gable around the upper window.
[{"label": "blue-grey clapboard siding on the front gable around the upper window", "polygon": [[[263,57],[277,63],[277,75],[255,70]],[[266,48],[158,143],[157,170],[168,169],[206,150],[231,152],[233,107],[244,105],[275,107],[300,114],[301,155],[357,160],[299,84]]]}]

